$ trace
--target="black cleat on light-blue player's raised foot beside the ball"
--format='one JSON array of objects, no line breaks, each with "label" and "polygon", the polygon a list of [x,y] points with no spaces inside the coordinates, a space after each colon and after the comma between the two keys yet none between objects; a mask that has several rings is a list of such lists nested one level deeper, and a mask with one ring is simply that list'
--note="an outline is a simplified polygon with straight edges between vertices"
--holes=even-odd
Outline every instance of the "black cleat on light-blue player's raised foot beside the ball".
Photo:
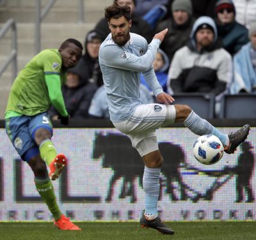
[{"label": "black cleat on light-blue player's raised foot beside the ball", "polygon": [[236,148],[239,146],[239,144],[241,144],[246,139],[246,137],[249,134],[249,131],[250,131],[250,125],[245,124],[243,128],[240,128],[234,133],[228,134],[230,144],[228,146],[228,149],[224,150],[225,153],[228,153],[228,154],[234,153],[234,151],[236,151]]}]

